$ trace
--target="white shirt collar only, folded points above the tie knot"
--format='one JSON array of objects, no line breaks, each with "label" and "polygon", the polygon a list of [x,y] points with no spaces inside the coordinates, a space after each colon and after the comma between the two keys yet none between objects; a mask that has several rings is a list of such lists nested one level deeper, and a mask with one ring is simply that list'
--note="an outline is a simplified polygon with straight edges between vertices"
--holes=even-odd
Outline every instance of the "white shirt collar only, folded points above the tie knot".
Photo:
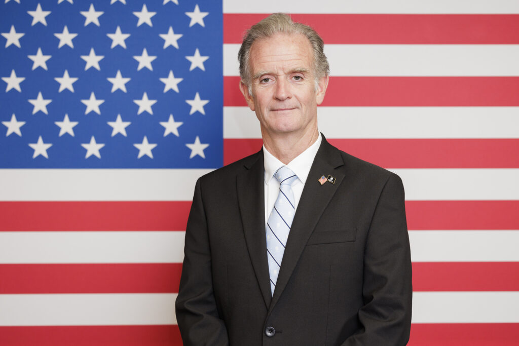
[{"label": "white shirt collar only, folded points above the tie knot", "polygon": [[[303,151],[303,153],[299,154],[292,161],[286,164],[286,167],[290,168],[292,172],[297,175],[297,178],[303,183],[303,185],[306,183],[306,178],[308,177],[308,173],[310,173],[313,159],[316,157],[321,141],[321,134],[319,134],[317,141],[310,145],[305,151]],[[276,171],[284,164],[274,155],[270,154],[265,146],[263,146],[263,158],[263,164],[265,167],[265,183],[268,185],[270,179],[274,176],[274,173],[276,173]]]}]

